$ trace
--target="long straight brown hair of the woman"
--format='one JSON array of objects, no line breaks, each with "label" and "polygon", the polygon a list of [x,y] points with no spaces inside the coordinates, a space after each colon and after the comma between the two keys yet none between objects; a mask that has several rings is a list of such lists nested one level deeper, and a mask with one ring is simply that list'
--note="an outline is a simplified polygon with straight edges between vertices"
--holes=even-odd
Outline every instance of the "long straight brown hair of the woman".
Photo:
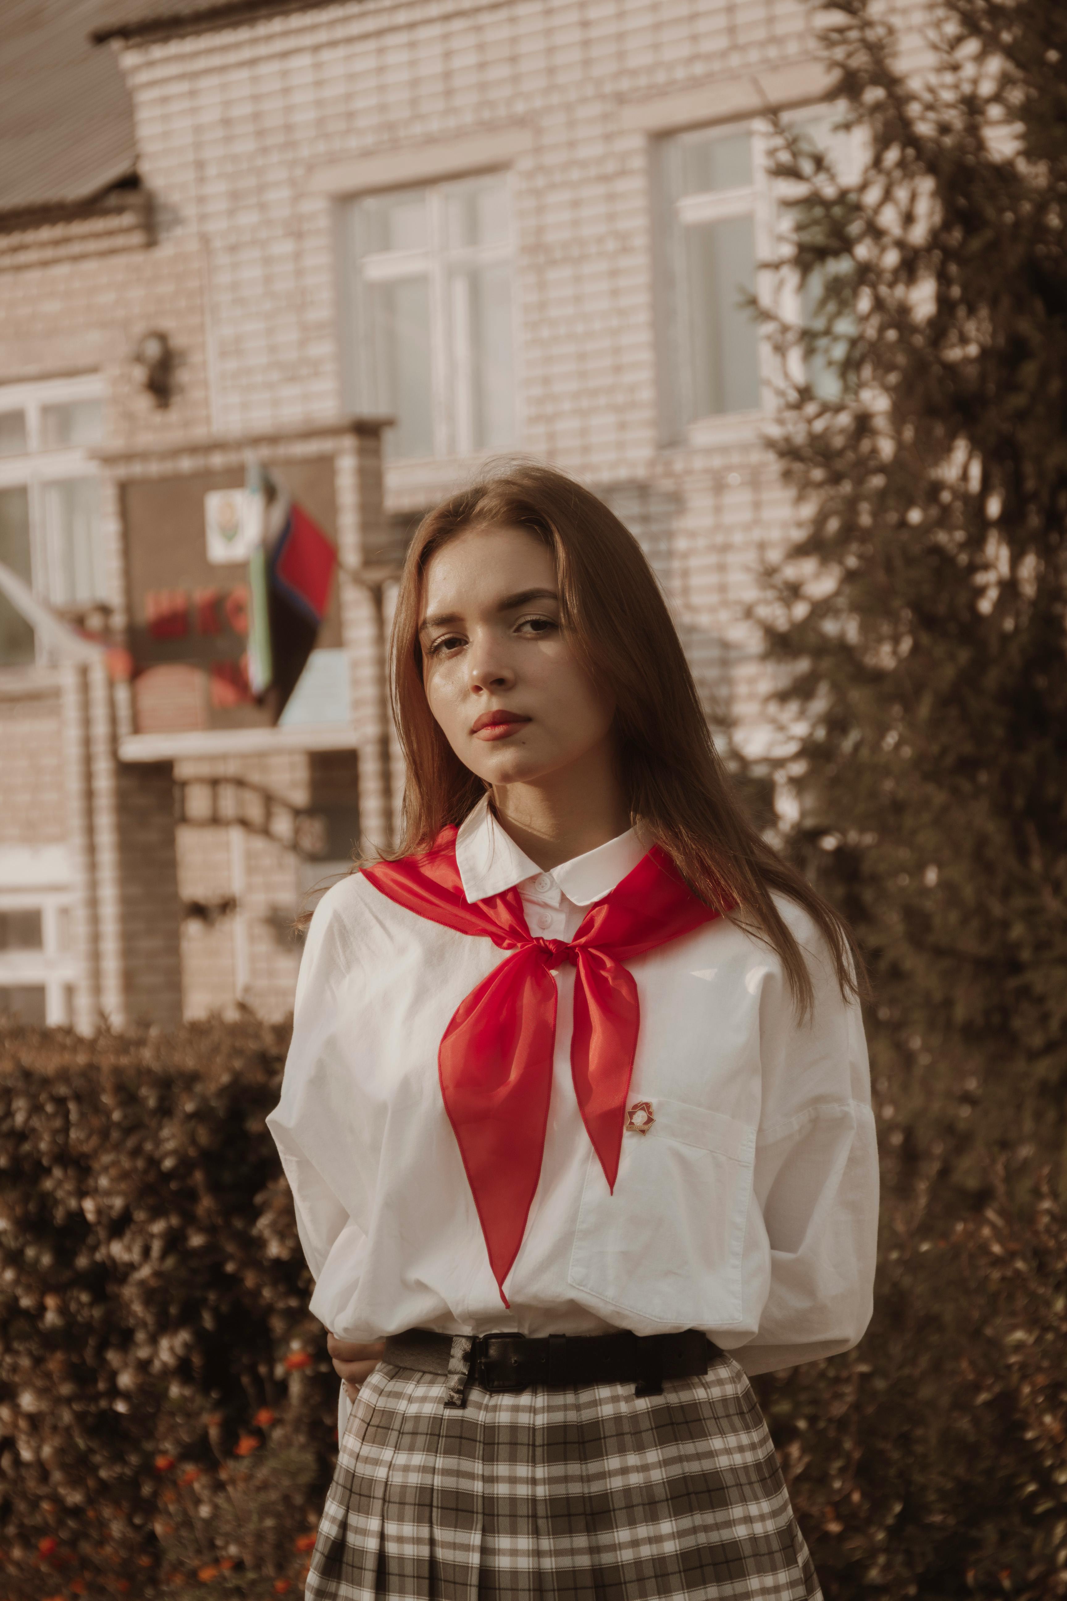
[{"label": "long straight brown hair of the woman", "polygon": [[427,850],[486,791],[430,712],[419,645],[427,564],[448,540],[475,527],[525,528],[552,551],[561,628],[585,671],[614,695],[619,775],[633,823],[672,857],[707,906],[777,951],[801,1015],[813,1004],[811,977],[774,892],[803,906],[824,935],[841,993],[859,993],[846,925],[761,837],[733,792],[640,544],[603,501],[553,467],[512,463],[442,501],[414,532],[390,640],[392,708],[406,765],[395,855]]}]

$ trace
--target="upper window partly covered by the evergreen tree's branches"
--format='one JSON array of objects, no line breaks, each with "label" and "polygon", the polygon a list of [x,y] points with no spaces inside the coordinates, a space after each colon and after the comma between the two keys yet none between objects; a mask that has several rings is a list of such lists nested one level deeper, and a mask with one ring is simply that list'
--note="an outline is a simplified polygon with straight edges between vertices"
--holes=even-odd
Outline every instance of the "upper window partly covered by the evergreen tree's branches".
[{"label": "upper window partly covered by the evergreen tree's branches", "polygon": [[[809,138],[829,142],[832,112],[798,118]],[[771,130],[757,118],[742,126],[699,128],[661,146],[664,205],[661,354],[664,434],[678,439],[701,419],[758,416],[768,399],[768,355],[745,296],[766,299],[758,263],[776,253],[785,218],[768,178]],[[838,154],[838,152],[835,152]],[[819,285],[779,301],[790,319],[809,317]],[[825,371],[813,373],[821,386]]]}]

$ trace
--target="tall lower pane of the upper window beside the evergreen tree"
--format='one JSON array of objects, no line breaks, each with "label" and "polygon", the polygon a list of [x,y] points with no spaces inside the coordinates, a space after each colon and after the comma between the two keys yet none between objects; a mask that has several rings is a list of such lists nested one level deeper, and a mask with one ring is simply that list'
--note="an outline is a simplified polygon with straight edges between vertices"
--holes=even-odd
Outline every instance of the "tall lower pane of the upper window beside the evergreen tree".
[{"label": "tall lower pane of the upper window beside the evergreen tree", "polygon": [[693,402],[688,421],[760,405],[755,319],[739,306],[755,288],[750,216],[685,229]]}]

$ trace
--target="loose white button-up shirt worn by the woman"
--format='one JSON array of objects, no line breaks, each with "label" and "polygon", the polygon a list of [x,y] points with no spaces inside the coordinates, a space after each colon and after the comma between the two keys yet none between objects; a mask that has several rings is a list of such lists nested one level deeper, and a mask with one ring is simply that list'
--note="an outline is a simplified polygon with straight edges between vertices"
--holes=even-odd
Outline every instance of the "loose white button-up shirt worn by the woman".
[{"label": "loose white button-up shirt worn by the woman", "polygon": [[[571,940],[645,853],[633,829],[542,873],[482,802],[459,829],[467,901],[518,887],[533,933]],[[872,1311],[878,1161],[859,1005],[792,901],[814,985],[801,1023],[773,949],[720,917],[627,962],[640,1034],[614,1193],[571,1084],[574,969],[558,1013],[541,1180],[496,1281],[437,1076],[459,1002],[507,953],[395,905],[362,874],[307,933],[293,1044],[267,1117],[336,1335],[403,1329],[704,1329],[749,1374],[845,1351]],[[637,1122],[643,1119],[638,1116]]]}]

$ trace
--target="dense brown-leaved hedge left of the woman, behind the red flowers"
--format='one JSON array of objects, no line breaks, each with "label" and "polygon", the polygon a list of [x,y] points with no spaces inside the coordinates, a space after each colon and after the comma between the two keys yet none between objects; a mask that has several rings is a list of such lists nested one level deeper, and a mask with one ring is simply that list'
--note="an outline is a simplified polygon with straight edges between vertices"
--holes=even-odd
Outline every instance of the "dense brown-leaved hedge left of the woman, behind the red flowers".
[{"label": "dense brown-leaved hedge left of the woman, behind the red flowers", "polygon": [[[310,1281],[264,1127],[286,1037],[253,1018],[91,1041],[0,1033],[0,1547],[11,1601],[74,1585],[150,1595],[157,1457],[206,1470],[211,1443],[230,1457],[259,1409],[291,1412],[293,1346],[312,1366],[290,1447],[307,1457],[312,1443],[301,1487],[307,1507],[322,1503],[338,1382],[306,1311]],[[306,1508],[290,1515],[296,1537]],[[227,1559],[226,1545],[216,1555]]]}]

